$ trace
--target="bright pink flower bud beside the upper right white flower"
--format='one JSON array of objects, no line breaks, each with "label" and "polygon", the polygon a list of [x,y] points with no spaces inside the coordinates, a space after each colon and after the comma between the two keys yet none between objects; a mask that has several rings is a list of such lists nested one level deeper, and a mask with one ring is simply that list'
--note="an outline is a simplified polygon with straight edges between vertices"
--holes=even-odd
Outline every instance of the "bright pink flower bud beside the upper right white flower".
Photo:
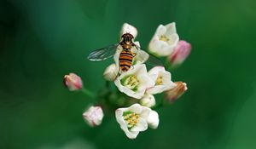
[{"label": "bright pink flower bud beside the upper right white flower", "polygon": [[172,66],[178,66],[182,64],[183,61],[186,60],[186,58],[189,56],[190,51],[191,51],[190,43],[180,40],[169,57],[172,63]]}]

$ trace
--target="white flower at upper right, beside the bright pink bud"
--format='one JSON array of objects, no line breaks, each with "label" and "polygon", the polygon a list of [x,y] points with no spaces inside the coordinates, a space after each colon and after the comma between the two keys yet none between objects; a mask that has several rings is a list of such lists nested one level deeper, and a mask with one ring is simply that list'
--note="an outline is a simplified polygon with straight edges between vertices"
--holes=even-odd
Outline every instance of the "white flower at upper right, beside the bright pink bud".
[{"label": "white flower at upper right, beside the bright pink bud", "polygon": [[168,56],[172,54],[178,40],[174,22],[166,26],[160,25],[149,43],[149,51],[157,56]]}]

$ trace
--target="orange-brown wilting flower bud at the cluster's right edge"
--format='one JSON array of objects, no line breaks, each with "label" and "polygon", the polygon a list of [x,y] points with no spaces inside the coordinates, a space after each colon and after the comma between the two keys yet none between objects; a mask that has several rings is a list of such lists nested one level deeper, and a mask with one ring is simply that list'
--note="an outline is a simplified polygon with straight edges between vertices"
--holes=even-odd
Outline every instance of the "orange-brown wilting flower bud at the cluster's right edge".
[{"label": "orange-brown wilting flower bud at the cluster's right edge", "polygon": [[172,103],[177,100],[188,89],[187,84],[183,82],[175,82],[176,87],[166,91],[166,98]]}]

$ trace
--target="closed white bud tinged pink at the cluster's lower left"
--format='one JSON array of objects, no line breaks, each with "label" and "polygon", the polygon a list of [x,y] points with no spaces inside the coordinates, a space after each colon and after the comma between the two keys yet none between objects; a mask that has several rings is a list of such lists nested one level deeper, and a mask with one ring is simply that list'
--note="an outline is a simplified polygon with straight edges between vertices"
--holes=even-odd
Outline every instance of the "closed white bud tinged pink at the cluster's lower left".
[{"label": "closed white bud tinged pink at the cluster's lower left", "polygon": [[91,127],[95,127],[102,123],[104,114],[101,106],[90,106],[86,112],[83,113],[84,121]]}]

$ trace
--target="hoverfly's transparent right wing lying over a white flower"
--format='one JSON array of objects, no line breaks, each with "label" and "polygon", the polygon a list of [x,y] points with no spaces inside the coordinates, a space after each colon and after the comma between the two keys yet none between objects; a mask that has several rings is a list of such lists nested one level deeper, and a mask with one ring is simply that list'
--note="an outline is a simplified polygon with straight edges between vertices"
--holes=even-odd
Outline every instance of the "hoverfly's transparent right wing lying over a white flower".
[{"label": "hoverfly's transparent right wing lying over a white flower", "polygon": [[146,61],[146,63],[149,66],[163,66],[163,63],[161,62],[160,59],[155,57],[153,54],[148,54],[145,52],[145,50],[141,49],[139,46],[135,45],[137,48],[137,54],[136,56],[138,57],[139,60]]}]

